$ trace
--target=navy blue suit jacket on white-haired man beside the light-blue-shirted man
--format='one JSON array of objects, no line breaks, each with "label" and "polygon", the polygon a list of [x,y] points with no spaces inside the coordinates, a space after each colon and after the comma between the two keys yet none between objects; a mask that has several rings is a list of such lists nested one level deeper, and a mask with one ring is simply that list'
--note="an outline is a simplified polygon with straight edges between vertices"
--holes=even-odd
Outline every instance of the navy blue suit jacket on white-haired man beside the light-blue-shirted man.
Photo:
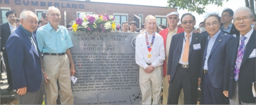
[{"label": "navy blue suit jacket on white-haired man beside the light-blue-shirted man", "polygon": [[[32,35],[34,41],[35,37]],[[36,43],[36,42],[35,42]],[[18,27],[6,43],[13,89],[27,87],[28,92],[36,92],[41,84],[40,51],[31,43],[28,35]]]}]

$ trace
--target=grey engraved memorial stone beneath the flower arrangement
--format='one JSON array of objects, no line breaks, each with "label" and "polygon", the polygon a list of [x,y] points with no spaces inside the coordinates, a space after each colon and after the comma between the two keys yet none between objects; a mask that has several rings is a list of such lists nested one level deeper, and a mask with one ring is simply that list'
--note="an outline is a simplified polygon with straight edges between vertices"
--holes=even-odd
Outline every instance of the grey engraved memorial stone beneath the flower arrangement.
[{"label": "grey engraved memorial stone beneath the flower arrangement", "polygon": [[70,31],[78,78],[72,83],[74,104],[141,104],[137,35]]}]

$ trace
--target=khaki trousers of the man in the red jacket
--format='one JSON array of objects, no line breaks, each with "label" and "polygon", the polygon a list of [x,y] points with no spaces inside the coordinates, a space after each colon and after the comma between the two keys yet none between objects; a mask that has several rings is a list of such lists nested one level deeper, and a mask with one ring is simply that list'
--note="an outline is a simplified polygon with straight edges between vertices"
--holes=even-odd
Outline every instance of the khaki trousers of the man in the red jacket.
[{"label": "khaki trousers of the man in the red jacket", "polygon": [[[168,62],[168,60],[166,60]],[[168,66],[166,64],[166,66]],[[168,100],[168,93],[169,93],[169,84],[167,83],[167,67],[166,67],[166,75],[163,77],[163,104],[167,104]],[[180,96],[179,96],[179,104],[184,104],[184,92],[181,89]]]}]

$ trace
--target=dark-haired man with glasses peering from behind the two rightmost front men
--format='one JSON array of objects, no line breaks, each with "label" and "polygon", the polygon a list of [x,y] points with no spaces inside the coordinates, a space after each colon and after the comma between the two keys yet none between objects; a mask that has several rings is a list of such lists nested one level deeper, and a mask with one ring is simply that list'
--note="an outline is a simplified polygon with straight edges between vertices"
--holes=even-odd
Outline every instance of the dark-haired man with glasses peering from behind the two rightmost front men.
[{"label": "dark-haired man with glasses peering from behind the two rightmost front men", "polygon": [[239,31],[234,27],[234,24],[232,23],[233,19],[233,10],[229,8],[225,8],[222,11],[221,14],[221,23],[223,23],[223,26],[221,27],[222,32],[226,32],[226,34],[232,35],[234,37],[237,37],[240,35]]}]

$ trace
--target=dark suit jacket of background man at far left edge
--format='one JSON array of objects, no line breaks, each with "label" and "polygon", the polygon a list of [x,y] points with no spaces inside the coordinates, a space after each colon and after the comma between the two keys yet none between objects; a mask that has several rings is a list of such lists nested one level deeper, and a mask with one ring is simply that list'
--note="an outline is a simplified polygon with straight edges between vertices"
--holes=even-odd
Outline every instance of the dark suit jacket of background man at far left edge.
[{"label": "dark suit jacket of background man at far left edge", "polygon": [[3,47],[5,47],[5,44],[11,35],[11,29],[9,26],[9,23],[3,23],[1,25],[1,51],[3,51]]}]

